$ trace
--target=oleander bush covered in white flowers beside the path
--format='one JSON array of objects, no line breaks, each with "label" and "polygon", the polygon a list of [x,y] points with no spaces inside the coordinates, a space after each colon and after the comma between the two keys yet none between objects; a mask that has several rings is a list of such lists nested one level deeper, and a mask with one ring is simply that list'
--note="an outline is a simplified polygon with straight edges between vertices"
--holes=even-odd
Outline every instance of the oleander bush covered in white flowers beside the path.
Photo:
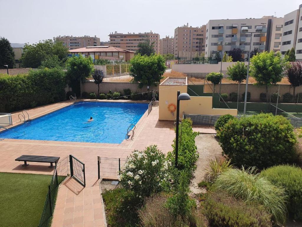
[{"label": "oleander bush covered in white flowers beside the path", "polygon": [[168,169],[172,166],[156,145],[134,150],[120,173],[121,185],[143,199],[170,187]]}]

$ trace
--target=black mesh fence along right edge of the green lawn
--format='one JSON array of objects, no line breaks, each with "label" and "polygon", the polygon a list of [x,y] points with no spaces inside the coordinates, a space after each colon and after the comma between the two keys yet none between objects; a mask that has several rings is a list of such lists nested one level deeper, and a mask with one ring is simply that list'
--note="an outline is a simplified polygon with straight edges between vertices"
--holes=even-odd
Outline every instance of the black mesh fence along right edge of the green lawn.
[{"label": "black mesh fence along right edge of the green lawn", "polygon": [[69,176],[69,173],[68,156],[66,156],[59,160],[54,169],[38,227],[49,227],[55,207],[58,186],[67,176]]}]

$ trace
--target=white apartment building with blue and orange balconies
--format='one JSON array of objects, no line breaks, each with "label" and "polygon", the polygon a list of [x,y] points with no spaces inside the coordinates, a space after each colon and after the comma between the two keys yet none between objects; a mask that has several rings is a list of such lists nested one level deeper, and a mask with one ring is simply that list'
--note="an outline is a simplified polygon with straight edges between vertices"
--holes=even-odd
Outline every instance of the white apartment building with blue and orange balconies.
[{"label": "white apartment building with blue and orange balconies", "polygon": [[[205,56],[210,56],[211,52],[216,54],[217,51],[223,56],[224,52],[228,53],[233,48],[240,48],[242,58],[246,58],[249,53],[251,34],[241,33],[242,27],[248,27],[249,31],[255,31],[258,26],[265,28],[263,33],[252,35],[251,50],[258,48],[259,52],[268,51],[276,43],[277,51],[279,50],[277,44],[280,42],[280,35],[276,35],[275,28],[282,30],[282,19],[264,16],[262,18],[210,20],[206,27]],[[281,34],[281,30],[277,34]],[[274,34],[273,39],[271,39],[271,34]]]}]

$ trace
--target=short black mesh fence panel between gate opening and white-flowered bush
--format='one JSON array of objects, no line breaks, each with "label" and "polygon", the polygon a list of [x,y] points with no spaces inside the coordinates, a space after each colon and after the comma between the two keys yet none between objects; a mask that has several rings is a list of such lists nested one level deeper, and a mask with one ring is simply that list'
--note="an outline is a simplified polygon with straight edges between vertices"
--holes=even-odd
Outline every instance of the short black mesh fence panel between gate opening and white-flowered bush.
[{"label": "short black mesh fence panel between gate opening and white-flowered bush", "polygon": [[98,156],[98,179],[117,180],[126,161],[127,159],[125,158],[104,158]]}]

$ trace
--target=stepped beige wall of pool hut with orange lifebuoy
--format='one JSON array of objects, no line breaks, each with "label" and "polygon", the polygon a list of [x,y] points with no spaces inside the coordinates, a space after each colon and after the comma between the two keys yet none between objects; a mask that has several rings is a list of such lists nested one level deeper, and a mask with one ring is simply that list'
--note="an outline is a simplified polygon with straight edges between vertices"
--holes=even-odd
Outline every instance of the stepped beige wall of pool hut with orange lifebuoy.
[{"label": "stepped beige wall of pool hut with orange lifebuoy", "polygon": [[[169,104],[177,104],[177,91],[180,93],[187,92],[187,85],[159,85],[159,120],[174,120],[174,115],[168,110]],[[203,114],[203,115],[224,115],[231,114],[237,116],[236,109],[212,109],[212,97],[195,97],[191,100],[180,101],[179,116],[186,114]]]}]

